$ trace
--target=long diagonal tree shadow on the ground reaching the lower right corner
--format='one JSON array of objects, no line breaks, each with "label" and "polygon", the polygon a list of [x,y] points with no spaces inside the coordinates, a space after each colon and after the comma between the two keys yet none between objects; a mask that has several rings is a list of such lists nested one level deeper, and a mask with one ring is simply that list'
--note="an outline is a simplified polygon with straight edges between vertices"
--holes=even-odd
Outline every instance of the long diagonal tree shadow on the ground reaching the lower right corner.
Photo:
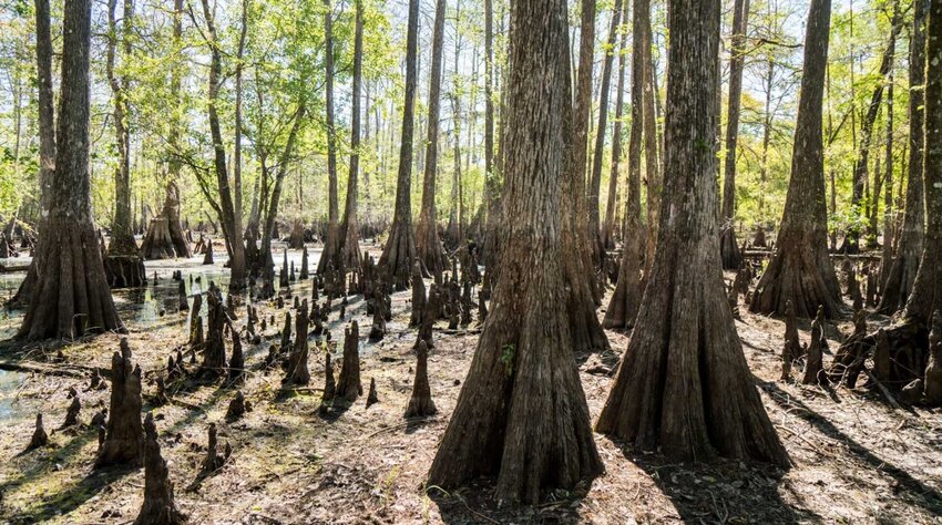
[{"label": "long diagonal tree shadow on the ground reaching the lower right corner", "polygon": [[[759,387],[765,390],[769,398],[782,410],[787,410],[792,416],[808,422],[826,436],[840,442],[847,447],[849,455],[873,471],[889,476],[894,485],[893,496],[901,497],[908,503],[920,506],[930,514],[942,515],[942,494],[925,483],[917,480],[910,473],[888,463],[866,446],[861,445],[847,435],[827,418],[815,412],[801,400],[796,399],[781,390],[774,382],[762,382]],[[798,409],[798,410],[796,410]]]}]

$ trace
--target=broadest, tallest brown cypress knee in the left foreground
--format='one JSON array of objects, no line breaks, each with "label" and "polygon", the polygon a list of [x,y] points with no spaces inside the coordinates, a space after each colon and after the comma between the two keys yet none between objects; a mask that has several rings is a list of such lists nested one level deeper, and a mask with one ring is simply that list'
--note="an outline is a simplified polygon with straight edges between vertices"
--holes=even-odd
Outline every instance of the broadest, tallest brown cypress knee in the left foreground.
[{"label": "broadest, tallest brown cypress knee in the left foreground", "polygon": [[116,464],[141,466],[144,453],[141,405],[141,367],[132,366],[131,348],[127,339],[122,338],[121,352],[111,357],[111,415],[94,469]]}]

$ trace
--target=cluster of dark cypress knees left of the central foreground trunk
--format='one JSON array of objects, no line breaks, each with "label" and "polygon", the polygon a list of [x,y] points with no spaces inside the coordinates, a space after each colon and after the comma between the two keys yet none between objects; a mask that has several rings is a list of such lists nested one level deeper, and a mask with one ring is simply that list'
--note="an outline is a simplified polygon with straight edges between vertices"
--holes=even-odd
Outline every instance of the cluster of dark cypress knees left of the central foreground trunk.
[{"label": "cluster of dark cypress knees left of the central foreground trunk", "polygon": [[[424,291],[423,268],[416,260],[412,268],[412,315],[410,327],[418,328],[416,339],[416,369],[412,394],[406,408],[406,418],[424,418],[437,413],[431,397],[428,378],[428,354],[433,348],[432,327],[436,321],[446,319],[449,329],[458,326],[467,327],[472,322],[471,310],[479,309],[478,321],[483,323],[487,317],[487,282],[482,282],[478,271],[474,255],[469,249],[453,259],[451,275],[438,274],[431,285],[428,296]],[[461,268],[459,271],[459,259]],[[307,257],[304,258],[300,279],[309,278],[307,275]],[[308,298],[300,299],[290,291],[290,282],[295,279],[294,267],[288,270],[287,256],[281,268],[279,278],[279,294],[275,300],[278,309],[284,309],[287,300],[294,300],[294,319],[291,311],[285,312],[284,328],[280,330],[280,340],[273,342],[268,354],[263,361],[266,371],[280,369],[284,373],[281,383],[290,389],[309,384],[311,378],[308,370],[309,339],[315,339],[316,348],[321,349],[324,354],[324,393],[318,413],[330,414],[350,406],[364,393],[360,379],[359,361],[359,326],[354,319],[344,332],[344,351],[340,373],[335,380],[334,364],[330,357],[330,332],[325,328],[328,315],[334,311],[332,302],[340,299],[338,308],[338,320],[346,317],[348,296],[362,295],[366,298],[367,315],[373,317],[369,339],[379,340],[386,334],[386,322],[391,319],[391,287],[388,279],[377,270],[372,257],[365,255],[360,268],[349,274],[342,269],[335,269],[328,265],[327,271],[314,277],[310,302]],[[156,276],[154,276],[156,280]],[[173,279],[178,285],[178,309],[190,312],[190,338],[185,346],[175,349],[167,358],[166,368],[157,373],[154,379],[155,392],[152,395],[142,395],[142,371],[141,367],[132,362],[132,352],[127,339],[121,339],[120,351],[112,356],[111,363],[111,397],[107,409],[102,409],[92,418],[90,428],[99,432],[99,449],[94,461],[94,469],[112,465],[131,467],[144,467],[144,502],[137,515],[135,524],[181,524],[186,523],[187,516],[176,506],[174,500],[174,486],[170,481],[167,462],[161,455],[161,445],[153,412],[147,412],[142,420],[144,400],[151,406],[161,406],[172,401],[172,387],[182,381],[216,381],[223,380],[228,388],[236,389],[234,398],[228,404],[225,419],[234,422],[246,412],[252,411],[252,403],[245,398],[238,387],[246,379],[245,357],[243,354],[243,340],[259,344],[263,334],[269,325],[276,322],[275,316],[269,319],[260,319],[257,309],[247,301],[245,305],[245,319],[240,329],[236,321],[239,320],[237,312],[238,300],[233,295],[223,299],[222,290],[214,284],[209,284],[205,292],[207,312],[204,330],[203,294],[192,296],[186,294],[186,286],[181,272],[174,272]],[[197,277],[198,279],[198,277]],[[191,288],[193,277],[191,276]],[[471,299],[471,289],[483,285],[479,290],[477,303]],[[325,302],[320,305],[319,294],[324,292]],[[310,305],[310,306],[309,306]],[[293,322],[294,321],[294,322]],[[256,331],[256,326],[260,331]],[[294,338],[293,338],[294,332]],[[226,358],[226,339],[231,340],[231,351]],[[202,354],[202,361],[197,356]],[[107,388],[106,381],[101,374],[93,372],[86,390],[100,390]],[[79,392],[72,388],[69,391],[71,404],[66,412],[65,421],[58,430],[78,429],[82,424],[79,415],[82,410]],[[377,403],[376,379],[370,379],[369,392],[366,406]],[[201,478],[212,475],[223,469],[233,453],[228,442],[219,445],[215,423],[208,426],[208,443],[206,455],[203,461]],[[37,414],[35,430],[27,447],[27,451],[40,449],[49,444],[42,414]]]}]

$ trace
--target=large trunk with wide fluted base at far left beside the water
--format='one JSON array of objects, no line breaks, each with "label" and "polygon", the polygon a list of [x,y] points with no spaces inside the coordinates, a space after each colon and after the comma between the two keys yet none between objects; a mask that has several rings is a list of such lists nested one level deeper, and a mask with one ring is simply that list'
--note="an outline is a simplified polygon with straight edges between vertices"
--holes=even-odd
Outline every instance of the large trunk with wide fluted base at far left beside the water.
[{"label": "large trunk with wide fluted base at far left beside the water", "polygon": [[76,338],[124,330],[105,280],[89,175],[91,2],[70,0],[63,19],[59,144],[37,282],[18,337]]}]

